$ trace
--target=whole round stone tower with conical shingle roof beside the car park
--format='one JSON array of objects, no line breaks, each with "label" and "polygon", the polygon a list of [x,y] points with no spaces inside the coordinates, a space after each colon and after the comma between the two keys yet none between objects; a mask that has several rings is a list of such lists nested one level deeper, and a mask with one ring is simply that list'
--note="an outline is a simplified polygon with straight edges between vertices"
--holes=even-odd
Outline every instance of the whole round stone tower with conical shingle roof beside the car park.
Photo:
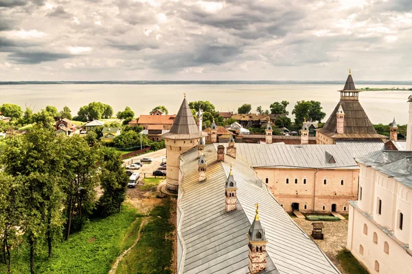
[{"label": "whole round stone tower with conical shingle roof beside the car park", "polygon": [[173,121],[170,132],[163,135],[165,139],[166,157],[168,166],[164,192],[177,195],[179,190],[180,157],[185,151],[198,145],[201,132],[194,121],[192,111],[187,104],[186,96],[183,99],[179,112]]}]

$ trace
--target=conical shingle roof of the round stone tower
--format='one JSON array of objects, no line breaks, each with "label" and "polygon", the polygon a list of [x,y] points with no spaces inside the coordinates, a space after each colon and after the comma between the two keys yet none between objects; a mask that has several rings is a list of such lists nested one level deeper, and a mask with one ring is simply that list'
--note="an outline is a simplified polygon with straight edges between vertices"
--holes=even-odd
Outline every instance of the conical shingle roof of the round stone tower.
[{"label": "conical shingle roof of the round stone tower", "polygon": [[193,118],[192,110],[190,110],[185,97],[185,99],[183,99],[179,112],[177,112],[176,118],[173,121],[170,132],[165,134],[163,138],[194,139],[200,137],[201,132],[199,132],[198,126],[196,125],[196,122]]}]

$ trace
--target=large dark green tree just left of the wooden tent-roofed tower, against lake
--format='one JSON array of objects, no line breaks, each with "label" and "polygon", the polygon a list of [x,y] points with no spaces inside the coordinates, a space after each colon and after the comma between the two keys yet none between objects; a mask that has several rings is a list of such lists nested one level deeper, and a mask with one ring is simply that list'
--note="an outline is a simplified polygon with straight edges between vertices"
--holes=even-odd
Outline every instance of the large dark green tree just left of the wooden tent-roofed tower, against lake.
[{"label": "large dark green tree just left of the wooden tent-roofed tower, against lake", "polygon": [[325,118],[325,112],[321,111],[321,102],[319,101],[297,101],[292,114],[295,114],[295,124],[302,125],[306,121],[321,121]]}]

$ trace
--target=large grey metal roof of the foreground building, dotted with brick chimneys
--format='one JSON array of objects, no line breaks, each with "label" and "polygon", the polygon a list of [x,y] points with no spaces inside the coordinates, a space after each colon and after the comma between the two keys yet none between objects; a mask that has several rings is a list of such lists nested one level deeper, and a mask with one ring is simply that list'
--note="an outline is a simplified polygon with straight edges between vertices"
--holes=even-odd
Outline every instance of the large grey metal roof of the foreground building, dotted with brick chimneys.
[{"label": "large grey metal roof of the foreground building, dotted with brick chimneys", "polygon": [[[268,262],[262,273],[339,273],[319,247],[290,219],[247,164],[218,162],[214,144],[205,147],[207,179],[198,182],[197,151],[182,155],[178,201],[179,273],[249,273],[247,232],[259,203]],[[237,210],[225,212],[225,182],[233,166]],[[260,182],[260,184],[258,183]]]}]

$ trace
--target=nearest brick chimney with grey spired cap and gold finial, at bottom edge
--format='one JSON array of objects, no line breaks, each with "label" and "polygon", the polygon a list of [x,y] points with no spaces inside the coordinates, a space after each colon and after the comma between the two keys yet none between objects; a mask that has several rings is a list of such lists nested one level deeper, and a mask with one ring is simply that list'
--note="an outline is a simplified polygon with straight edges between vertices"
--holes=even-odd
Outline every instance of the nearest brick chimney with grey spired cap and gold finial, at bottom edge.
[{"label": "nearest brick chimney with grey spired cap and gold finial, at bottom edge", "polygon": [[256,203],[256,215],[247,238],[249,240],[249,271],[251,274],[260,273],[266,269],[266,236],[259,219],[259,205]]}]

